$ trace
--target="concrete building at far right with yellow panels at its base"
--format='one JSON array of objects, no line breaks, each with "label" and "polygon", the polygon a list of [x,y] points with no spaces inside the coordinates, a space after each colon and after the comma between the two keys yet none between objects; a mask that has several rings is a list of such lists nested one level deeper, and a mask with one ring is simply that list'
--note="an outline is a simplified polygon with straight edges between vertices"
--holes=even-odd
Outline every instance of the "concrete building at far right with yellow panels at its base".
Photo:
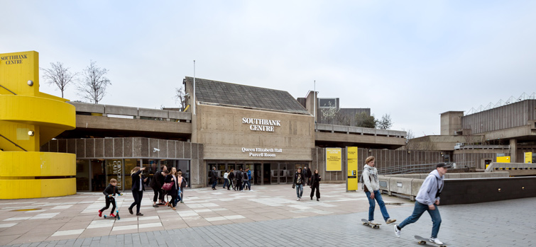
[{"label": "concrete building at far right with yellow panels at its base", "polygon": [[520,99],[470,115],[442,113],[441,135],[410,139],[404,149],[442,151],[446,161],[476,169],[501,159],[532,163],[536,160],[536,100]]}]

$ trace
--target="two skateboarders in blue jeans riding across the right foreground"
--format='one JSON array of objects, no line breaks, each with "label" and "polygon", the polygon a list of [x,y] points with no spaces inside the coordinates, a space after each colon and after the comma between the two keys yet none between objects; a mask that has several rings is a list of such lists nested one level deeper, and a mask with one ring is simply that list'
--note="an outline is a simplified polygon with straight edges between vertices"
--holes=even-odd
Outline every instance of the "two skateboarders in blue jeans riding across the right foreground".
[{"label": "two skateboarders in blue jeans riding across the right foreground", "polygon": [[[363,168],[363,190],[365,190],[366,197],[368,198],[368,222],[375,223],[374,221],[374,209],[376,202],[380,206],[380,211],[385,220],[385,223],[390,224],[396,222],[396,219],[391,219],[385,208],[385,203],[381,197],[380,185],[378,180],[378,170],[375,166],[374,156],[369,156],[365,160],[366,165]],[[439,234],[439,226],[441,226],[441,214],[439,214],[439,195],[443,190],[444,175],[447,173],[449,164],[438,163],[435,170],[430,172],[422,183],[417,197],[415,197],[415,207],[410,217],[404,219],[400,224],[395,224],[395,236],[400,238],[401,230],[417,222],[422,214],[428,212],[432,218],[432,235],[430,236],[430,242],[443,244],[439,241],[437,234]],[[376,202],[374,201],[376,200]]]}]

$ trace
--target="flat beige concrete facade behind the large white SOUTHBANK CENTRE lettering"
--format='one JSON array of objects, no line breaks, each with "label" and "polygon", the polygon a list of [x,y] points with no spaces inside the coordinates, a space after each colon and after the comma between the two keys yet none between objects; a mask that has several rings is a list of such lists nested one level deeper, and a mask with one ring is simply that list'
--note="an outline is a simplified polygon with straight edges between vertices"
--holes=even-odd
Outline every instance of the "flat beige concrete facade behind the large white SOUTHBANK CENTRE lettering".
[{"label": "flat beige concrete facade behind the large white SOUTHBANK CENTRE lettering", "polygon": [[[315,145],[311,115],[278,113],[216,105],[197,105],[197,142],[204,144],[204,159],[247,161],[311,161]],[[243,118],[278,120],[273,132],[251,130]],[[282,149],[282,152],[251,152],[246,149]],[[275,157],[250,156],[275,154]]]}]

